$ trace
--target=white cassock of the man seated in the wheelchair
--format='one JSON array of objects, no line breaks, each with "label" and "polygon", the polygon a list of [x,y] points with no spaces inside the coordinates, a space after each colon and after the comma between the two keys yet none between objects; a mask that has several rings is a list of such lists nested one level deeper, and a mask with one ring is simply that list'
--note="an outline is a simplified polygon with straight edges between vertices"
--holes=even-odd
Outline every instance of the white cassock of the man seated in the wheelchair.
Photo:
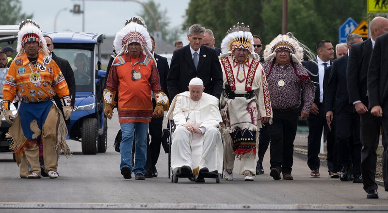
[{"label": "white cassock of the man seated in the wheelchair", "polygon": [[[218,125],[222,122],[218,109],[218,99],[202,93],[199,101],[190,98],[190,92],[179,93],[171,103],[166,115],[174,120],[176,129],[172,137],[171,167],[174,172],[179,167],[189,166],[194,175],[207,167],[222,174],[223,145]],[[184,124],[191,124],[205,130],[204,134],[192,133]]]}]

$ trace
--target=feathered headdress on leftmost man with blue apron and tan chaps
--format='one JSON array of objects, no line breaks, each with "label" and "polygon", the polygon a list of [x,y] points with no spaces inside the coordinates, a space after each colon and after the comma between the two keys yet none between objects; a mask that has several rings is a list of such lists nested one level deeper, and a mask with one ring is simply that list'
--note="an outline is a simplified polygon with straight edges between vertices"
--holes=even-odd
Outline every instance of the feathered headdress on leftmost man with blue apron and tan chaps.
[{"label": "feathered headdress on leftmost man with blue apron and tan chaps", "polygon": [[46,40],[43,37],[42,30],[38,24],[33,22],[31,19],[27,19],[20,23],[19,31],[17,32],[17,55],[21,56],[25,52],[24,45],[27,42],[38,42],[39,52],[43,55],[48,56]]}]

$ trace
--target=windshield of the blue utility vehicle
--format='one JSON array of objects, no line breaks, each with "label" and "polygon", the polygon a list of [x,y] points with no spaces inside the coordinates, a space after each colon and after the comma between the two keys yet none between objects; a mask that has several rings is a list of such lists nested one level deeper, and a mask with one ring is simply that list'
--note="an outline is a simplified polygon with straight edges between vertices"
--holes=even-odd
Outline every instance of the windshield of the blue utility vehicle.
[{"label": "windshield of the blue utility vehicle", "polygon": [[76,80],[76,91],[93,91],[93,51],[85,49],[54,48],[56,56],[69,61]]}]

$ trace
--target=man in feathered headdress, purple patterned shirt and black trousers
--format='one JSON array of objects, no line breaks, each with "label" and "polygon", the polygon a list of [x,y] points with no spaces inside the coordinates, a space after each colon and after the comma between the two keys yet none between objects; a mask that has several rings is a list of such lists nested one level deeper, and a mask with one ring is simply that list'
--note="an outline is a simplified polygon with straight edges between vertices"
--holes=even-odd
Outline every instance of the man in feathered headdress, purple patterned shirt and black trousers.
[{"label": "man in feathered headdress, purple patterned shirt and black trousers", "polygon": [[314,101],[314,86],[301,64],[303,48],[291,35],[278,35],[265,47],[263,64],[274,110],[271,135],[271,177],[293,180],[293,148],[299,121],[301,91],[304,105],[301,117],[308,117]]}]

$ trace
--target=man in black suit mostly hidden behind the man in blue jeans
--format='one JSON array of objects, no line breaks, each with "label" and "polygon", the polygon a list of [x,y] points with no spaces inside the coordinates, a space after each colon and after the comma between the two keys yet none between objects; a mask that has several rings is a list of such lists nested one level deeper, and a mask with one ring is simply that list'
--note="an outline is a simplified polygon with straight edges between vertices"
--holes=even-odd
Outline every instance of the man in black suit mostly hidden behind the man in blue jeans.
[{"label": "man in black suit mostly hidden behind the man in blue jeans", "polygon": [[[155,39],[151,35],[152,50],[151,52],[154,55],[155,61],[157,63],[157,68],[159,72],[159,78],[161,81],[162,91],[167,91],[167,74],[168,74],[168,62],[167,58],[162,57],[154,52],[155,50]],[[167,96],[168,93],[166,92]],[[152,95],[152,107],[155,109],[156,102],[154,95]],[[149,122],[149,135],[151,136],[151,142],[147,143],[147,161],[146,161],[146,174],[145,177],[152,178],[158,177],[158,170],[156,169],[156,163],[158,162],[159,154],[161,152],[162,144],[162,126],[163,126],[163,117],[152,118]],[[149,150],[149,152],[148,152]]]}]

